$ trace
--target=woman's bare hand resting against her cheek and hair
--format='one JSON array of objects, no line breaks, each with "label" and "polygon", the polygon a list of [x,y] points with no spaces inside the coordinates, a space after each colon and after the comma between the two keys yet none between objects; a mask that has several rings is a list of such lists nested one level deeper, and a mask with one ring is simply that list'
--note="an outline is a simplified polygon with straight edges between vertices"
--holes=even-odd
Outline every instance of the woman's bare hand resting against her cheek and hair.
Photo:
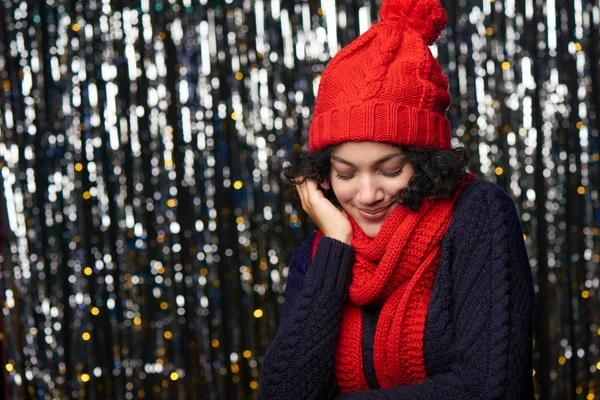
[{"label": "woman's bare hand resting against her cheek and hair", "polygon": [[[301,179],[300,179],[301,180]],[[352,225],[336,206],[319,190],[319,184],[314,179],[307,179],[303,184],[296,185],[302,209],[317,224],[325,236],[337,239],[346,244],[352,243]]]}]

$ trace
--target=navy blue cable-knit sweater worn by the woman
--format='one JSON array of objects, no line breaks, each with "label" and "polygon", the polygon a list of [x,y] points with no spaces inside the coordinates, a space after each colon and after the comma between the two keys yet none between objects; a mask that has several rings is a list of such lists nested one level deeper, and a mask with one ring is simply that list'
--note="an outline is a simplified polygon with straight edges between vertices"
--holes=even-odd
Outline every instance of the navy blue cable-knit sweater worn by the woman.
[{"label": "navy blue cable-knit sweater worn by the woman", "polygon": [[[314,234],[289,265],[283,318],[262,365],[261,399],[533,398],[533,281],[520,221],[503,190],[474,180],[455,205],[425,322],[427,379],[415,385],[339,394],[336,344],[354,250],[324,237],[311,262],[313,240]],[[372,321],[363,329],[368,338],[377,317],[365,312]],[[372,347],[364,346],[365,368],[372,358]]]}]

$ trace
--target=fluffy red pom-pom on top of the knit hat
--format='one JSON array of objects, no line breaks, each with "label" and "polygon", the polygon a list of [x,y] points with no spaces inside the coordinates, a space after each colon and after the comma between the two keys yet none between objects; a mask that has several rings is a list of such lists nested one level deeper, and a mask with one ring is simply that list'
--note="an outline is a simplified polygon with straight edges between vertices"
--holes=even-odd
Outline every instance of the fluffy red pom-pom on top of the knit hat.
[{"label": "fluffy red pom-pom on top of the knit hat", "polygon": [[440,37],[447,20],[440,0],[384,0],[379,14],[382,21],[405,23],[429,46]]}]

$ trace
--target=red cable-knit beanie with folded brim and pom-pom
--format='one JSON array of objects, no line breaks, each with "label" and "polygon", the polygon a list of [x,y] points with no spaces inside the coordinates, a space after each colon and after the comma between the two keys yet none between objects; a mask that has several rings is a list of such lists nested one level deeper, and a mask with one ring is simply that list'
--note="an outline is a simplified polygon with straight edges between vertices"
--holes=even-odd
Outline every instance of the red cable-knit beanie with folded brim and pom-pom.
[{"label": "red cable-knit beanie with folded brim and pom-pom", "polygon": [[448,80],[428,45],[446,25],[439,0],[384,0],[381,21],[325,69],[309,151],[347,141],[449,149]]}]

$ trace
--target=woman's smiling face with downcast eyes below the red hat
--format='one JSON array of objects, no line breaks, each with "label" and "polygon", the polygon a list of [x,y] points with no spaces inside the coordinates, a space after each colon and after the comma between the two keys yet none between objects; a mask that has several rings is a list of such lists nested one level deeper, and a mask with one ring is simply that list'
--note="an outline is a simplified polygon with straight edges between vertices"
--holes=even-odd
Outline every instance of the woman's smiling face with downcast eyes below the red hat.
[{"label": "woman's smiling face with downcast eyes below the red hat", "polygon": [[344,211],[371,238],[398,206],[394,196],[414,174],[400,149],[387,143],[346,142],[331,155],[331,188]]}]

